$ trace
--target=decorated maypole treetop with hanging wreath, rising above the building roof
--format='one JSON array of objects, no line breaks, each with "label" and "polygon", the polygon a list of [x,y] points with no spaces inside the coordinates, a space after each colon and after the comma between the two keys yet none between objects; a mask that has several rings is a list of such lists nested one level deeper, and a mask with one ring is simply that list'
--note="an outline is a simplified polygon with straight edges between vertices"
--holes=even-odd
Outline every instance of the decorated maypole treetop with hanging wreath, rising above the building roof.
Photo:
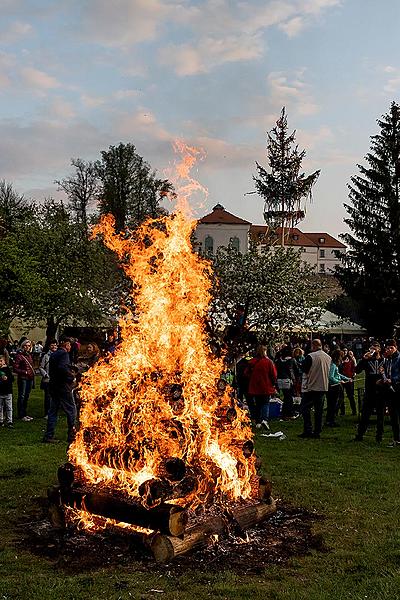
[{"label": "decorated maypole treetop with hanging wreath, rising above the building roof", "polygon": [[264,218],[272,229],[282,227],[281,243],[284,245],[285,228],[294,227],[304,218],[303,203],[311,198],[312,187],[320,171],[311,175],[301,172],[305,150],[295,144],[296,131],[288,135],[285,108],[276,126],[267,134],[269,171],[258,162],[258,177],[253,177],[256,191],[264,198]]}]

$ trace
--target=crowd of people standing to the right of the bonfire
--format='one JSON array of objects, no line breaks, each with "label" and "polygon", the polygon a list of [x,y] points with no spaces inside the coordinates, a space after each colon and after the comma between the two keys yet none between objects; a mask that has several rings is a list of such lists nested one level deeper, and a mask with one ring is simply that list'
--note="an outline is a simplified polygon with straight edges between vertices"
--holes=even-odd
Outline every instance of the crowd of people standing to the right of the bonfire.
[{"label": "crowd of people standing to the right of the bonfire", "polygon": [[[303,432],[299,437],[319,439],[323,426],[339,426],[338,416],[345,414],[347,396],[351,414],[358,416],[355,441],[363,440],[371,416],[376,414],[375,437],[382,442],[388,412],[393,434],[390,446],[400,445],[400,353],[396,340],[381,344],[357,338],[349,348],[335,338],[330,344],[314,339],[304,346],[286,344],[273,349],[273,358],[266,346],[259,346],[253,357],[246,354],[236,362],[238,399],[248,407],[255,427],[269,429],[270,403],[279,396],[282,420],[301,416]],[[356,402],[354,380],[360,373],[364,373],[365,383]]]}]

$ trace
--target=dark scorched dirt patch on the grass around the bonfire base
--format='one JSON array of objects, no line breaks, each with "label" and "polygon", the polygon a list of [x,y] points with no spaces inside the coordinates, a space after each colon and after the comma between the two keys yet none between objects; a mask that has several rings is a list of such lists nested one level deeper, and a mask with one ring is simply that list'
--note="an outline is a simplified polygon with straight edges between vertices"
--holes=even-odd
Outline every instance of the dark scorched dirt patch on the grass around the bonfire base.
[{"label": "dark scorched dirt patch on the grass around the bonfire base", "polygon": [[269,565],[285,564],[292,557],[326,551],[322,537],[312,531],[313,524],[321,517],[284,503],[279,503],[276,514],[267,521],[248,529],[245,538],[220,539],[212,546],[177,557],[166,565],[157,564],[150,551],[128,535],[113,531],[95,535],[82,531],[59,532],[46,518],[43,501],[38,499],[31,507],[31,516],[36,509],[37,518],[21,525],[21,539],[15,543],[51,560],[57,570],[67,573],[119,565],[174,575],[188,569],[258,574]]}]

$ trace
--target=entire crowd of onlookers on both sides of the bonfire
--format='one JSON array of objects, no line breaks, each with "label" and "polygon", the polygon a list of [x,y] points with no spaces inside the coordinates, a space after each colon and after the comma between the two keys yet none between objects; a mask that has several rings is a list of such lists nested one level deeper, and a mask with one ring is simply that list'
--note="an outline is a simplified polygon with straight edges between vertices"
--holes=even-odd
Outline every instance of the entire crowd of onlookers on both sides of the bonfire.
[{"label": "entire crowd of onlookers on both sides of the bonfire", "polygon": [[[117,340],[110,335],[103,353],[113,354]],[[367,346],[367,347],[366,347]],[[29,397],[40,376],[43,416],[47,427],[43,442],[54,443],[60,409],[67,415],[68,442],[74,439],[79,408],[79,380],[101,355],[99,346],[81,346],[77,339],[61,337],[46,348],[23,338],[0,340],[0,426],[13,427],[13,383],[17,384],[17,419],[30,422]],[[358,418],[356,441],[362,441],[376,414],[376,441],[381,442],[384,417],[389,412],[392,446],[400,445],[400,353],[395,340],[353,340],[351,345],[335,338],[329,344],[314,339],[306,344],[277,348],[260,345],[254,355],[246,353],[234,366],[233,385],[256,429],[269,429],[272,400],[279,398],[284,421],[302,417],[303,439],[319,439],[323,427],[338,427],[345,414],[347,396],[351,414]],[[363,395],[355,398],[354,380],[364,373]],[[360,391],[360,390],[359,390]],[[326,402],[326,404],[325,404]],[[325,414],[325,421],[324,421]]]}]

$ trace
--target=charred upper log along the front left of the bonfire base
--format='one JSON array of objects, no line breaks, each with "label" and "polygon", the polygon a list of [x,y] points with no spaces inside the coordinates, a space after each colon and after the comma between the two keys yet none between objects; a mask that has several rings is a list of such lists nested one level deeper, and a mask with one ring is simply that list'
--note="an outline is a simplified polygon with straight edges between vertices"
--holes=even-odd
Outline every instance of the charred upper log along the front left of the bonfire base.
[{"label": "charred upper log along the front left of the bonfire base", "polygon": [[[54,494],[53,499],[56,500]],[[181,506],[163,503],[146,509],[141,504],[79,488],[61,490],[60,499],[66,506],[170,536],[183,535],[188,520],[187,512]]]}]

